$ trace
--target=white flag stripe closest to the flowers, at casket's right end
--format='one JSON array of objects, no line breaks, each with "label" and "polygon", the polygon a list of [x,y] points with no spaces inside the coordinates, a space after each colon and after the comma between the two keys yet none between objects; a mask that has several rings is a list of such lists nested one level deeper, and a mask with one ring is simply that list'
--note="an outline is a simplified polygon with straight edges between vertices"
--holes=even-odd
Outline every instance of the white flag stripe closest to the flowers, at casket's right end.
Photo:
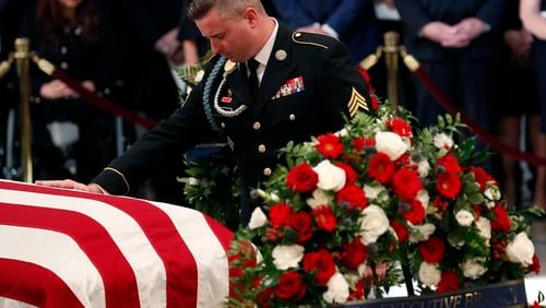
[{"label": "white flag stripe closest to the flowers, at casket's right end", "polygon": [[198,307],[223,307],[229,294],[226,253],[203,215],[194,210],[150,202],[173,220],[198,265]]}]

